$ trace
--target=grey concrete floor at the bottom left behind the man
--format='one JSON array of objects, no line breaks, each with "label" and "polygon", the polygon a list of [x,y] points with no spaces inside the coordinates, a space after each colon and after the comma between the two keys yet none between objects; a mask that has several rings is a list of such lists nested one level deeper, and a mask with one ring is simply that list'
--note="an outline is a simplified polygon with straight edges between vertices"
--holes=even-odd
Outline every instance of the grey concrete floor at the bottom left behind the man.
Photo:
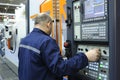
[{"label": "grey concrete floor at the bottom left behind the man", "polygon": [[[9,65],[12,67],[9,67]],[[0,57],[0,80],[18,80],[18,74],[14,71],[16,67],[7,59]]]}]

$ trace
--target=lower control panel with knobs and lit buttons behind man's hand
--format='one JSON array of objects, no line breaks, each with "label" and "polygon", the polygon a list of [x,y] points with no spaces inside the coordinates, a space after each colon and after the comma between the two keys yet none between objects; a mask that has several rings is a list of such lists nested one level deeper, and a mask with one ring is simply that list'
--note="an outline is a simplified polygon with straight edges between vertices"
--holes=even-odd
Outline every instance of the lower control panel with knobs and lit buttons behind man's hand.
[{"label": "lower control panel with knobs and lit buttons behind man's hand", "polygon": [[89,62],[89,65],[80,71],[93,80],[109,80],[109,48],[101,45],[78,45],[77,52],[86,53],[93,48],[99,48],[101,59],[98,62]]}]

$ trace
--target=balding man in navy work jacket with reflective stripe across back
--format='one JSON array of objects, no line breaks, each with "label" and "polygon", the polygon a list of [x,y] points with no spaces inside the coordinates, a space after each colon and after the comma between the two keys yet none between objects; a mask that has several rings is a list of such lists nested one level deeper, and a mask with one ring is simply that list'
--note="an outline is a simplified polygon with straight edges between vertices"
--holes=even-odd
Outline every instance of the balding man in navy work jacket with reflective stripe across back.
[{"label": "balding man in navy work jacket with reflective stripe across back", "polygon": [[88,65],[88,61],[97,61],[98,49],[76,54],[63,60],[56,41],[50,37],[52,19],[41,13],[35,18],[35,28],[22,39],[19,46],[19,80],[62,80]]}]

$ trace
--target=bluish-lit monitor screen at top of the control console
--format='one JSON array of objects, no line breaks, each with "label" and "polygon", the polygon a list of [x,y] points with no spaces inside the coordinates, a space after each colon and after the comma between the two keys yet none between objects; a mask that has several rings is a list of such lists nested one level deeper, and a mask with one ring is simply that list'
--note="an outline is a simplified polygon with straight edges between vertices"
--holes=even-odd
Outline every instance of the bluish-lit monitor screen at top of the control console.
[{"label": "bluish-lit monitor screen at top of the control console", "polygon": [[95,18],[105,15],[104,0],[86,0],[84,2],[84,18]]}]

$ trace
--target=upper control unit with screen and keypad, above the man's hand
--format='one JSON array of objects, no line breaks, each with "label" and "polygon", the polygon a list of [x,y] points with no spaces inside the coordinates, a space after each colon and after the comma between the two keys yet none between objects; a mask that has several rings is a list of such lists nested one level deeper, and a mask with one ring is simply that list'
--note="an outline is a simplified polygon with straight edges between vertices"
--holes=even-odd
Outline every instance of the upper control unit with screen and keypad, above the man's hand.
[{"label": "upper control unit with screen and keypad, above the man's hand", "polygon": [[108,42],[107,0],[73,2],[75,41]]}]

